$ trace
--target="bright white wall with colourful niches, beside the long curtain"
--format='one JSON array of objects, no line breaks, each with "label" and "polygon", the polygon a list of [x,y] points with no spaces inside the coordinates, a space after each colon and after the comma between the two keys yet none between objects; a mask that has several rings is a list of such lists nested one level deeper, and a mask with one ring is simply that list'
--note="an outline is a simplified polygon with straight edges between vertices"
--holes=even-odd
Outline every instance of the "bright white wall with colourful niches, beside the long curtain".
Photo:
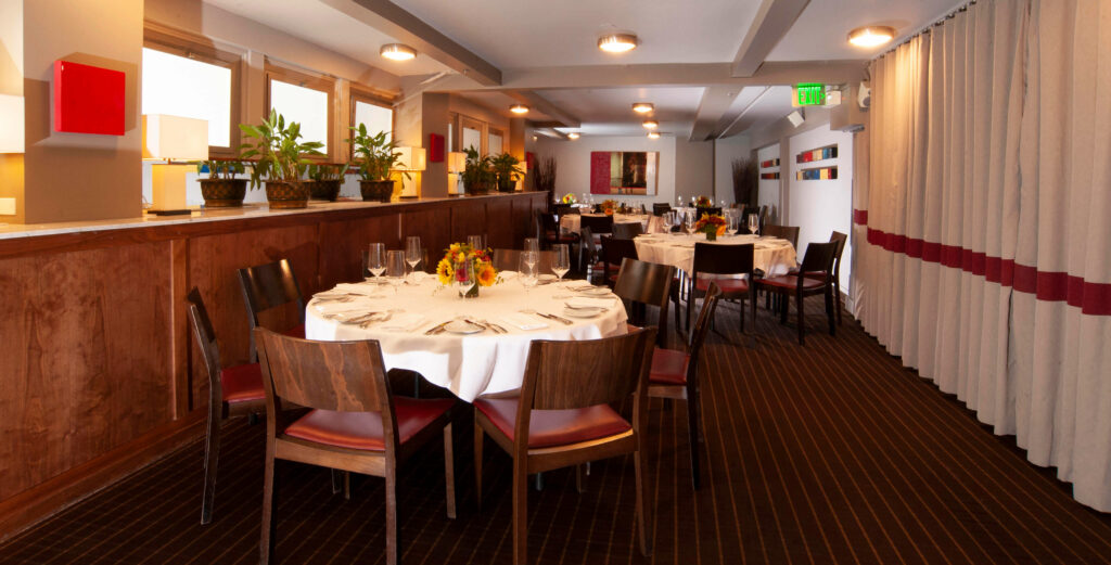
[{"label": "bright white wall with colourful niches, beside the long curtain", "polygon": [[[838,158],[809,163],[797,163],[795,155],[803,151],[837,143]],[[829,241],[831,231],[852,235],[852,133],[831,131],[829,124],[800,133],[790,139],[791,162],[780,169],[789,173],[787,224],[799,226],[799,259],[807,244]],[[795,172],[814,167],[838,167],[837,180],[797,181]],[[780,173],[780,174],[783,174]],[[850,241],[851,243],[851,241]],[[841,255],[841,290],[849,290],[849,269],[852,264],[851,245],[845,244]]]}]

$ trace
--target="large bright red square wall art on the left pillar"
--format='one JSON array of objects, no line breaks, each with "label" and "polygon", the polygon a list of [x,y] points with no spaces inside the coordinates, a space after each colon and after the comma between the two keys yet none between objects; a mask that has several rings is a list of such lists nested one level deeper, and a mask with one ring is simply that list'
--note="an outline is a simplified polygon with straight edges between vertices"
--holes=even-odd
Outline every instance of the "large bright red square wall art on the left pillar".
[{"label": "large bright red square wall art on the left pillar", "polygon": [[54,131],[123,135],[124,73],[54,61]]}]

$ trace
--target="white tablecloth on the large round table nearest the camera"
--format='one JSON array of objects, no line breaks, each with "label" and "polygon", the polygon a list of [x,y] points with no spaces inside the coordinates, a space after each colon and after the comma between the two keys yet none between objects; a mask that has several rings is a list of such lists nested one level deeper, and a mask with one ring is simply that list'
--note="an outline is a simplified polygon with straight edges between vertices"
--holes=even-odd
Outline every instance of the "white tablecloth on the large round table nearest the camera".
[{"label": "white tablecloth on the large round table nearest the camera", "polygon": [[[454,289],[441,286],[431,275],[420,283],[407,282],[396,293],[389,285],[340,284],[330,292],[359,295],[347,296],[348,302],[314,297],[306,307],[306,336],[323,341],[378,340],[387,369],[417,371],[429,382],[471,402],[483,394],[520,389],[532,340],[597,340],[627,332],[624,305],[612,294],[608,295],[612,306],[594,317],[564,315],[564,302],[581,297],[570,289],[584,285],[583,281],[542,284],[527,292],[516,273],[502,275],[504,282],[482,287],[479,297],[468,300],[460,299]],[[564,325],[520,312],[527,309],[560,315],[572,323]],[[340,320],[373,311],[392,311],[391,319],[366,327]],[[426,334],[457,316],[494,323],[508,333],[487,330],[470,335]],[[526,330],[516,324],[542,327]]]}]

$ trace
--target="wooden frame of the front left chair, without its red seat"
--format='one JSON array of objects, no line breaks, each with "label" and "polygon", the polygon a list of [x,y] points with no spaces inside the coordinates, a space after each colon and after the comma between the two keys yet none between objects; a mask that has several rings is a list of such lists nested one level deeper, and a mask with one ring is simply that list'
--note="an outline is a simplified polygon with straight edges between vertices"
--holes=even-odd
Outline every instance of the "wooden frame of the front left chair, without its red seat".
[{"label": "wooden frame of the front left chair, without its red seat", "polygon": [[[278,484],[277,460],[296,461],[386,480],[386,563],[396,565],[398,539],[398,465],[424,444],[443,436],[447,513],[456,517],[454,457],[448,410],[409,441],[399,444],[393,393],[387,379],[382,350],[377,341],[317,342],[290,337],[264,327],[253,330],[259,343],[263,389],[267,393],[267,460],[262,497],[260,563],[270,562],[277,541],[273,519]],[[384,451],[338,447],[286,435],[296,418],[283,404],[339,412],[378,412],[382,416]]]}]

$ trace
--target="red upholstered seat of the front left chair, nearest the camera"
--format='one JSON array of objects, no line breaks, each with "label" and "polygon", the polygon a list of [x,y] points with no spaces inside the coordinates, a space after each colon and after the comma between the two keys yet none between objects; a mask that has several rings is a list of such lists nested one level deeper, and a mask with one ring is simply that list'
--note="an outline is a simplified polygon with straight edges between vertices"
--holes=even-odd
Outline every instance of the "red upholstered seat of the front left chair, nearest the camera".
[{"label": "red upholstered seat of the front left chair, nearest the camera", "polygon": [[[411,440],[454,403],[451,398],[417,400],[394,396],[398,443]],[[287,427],[286,435],[350,450],[386,451],[382,416],[378,412],[313,410]]]}]

